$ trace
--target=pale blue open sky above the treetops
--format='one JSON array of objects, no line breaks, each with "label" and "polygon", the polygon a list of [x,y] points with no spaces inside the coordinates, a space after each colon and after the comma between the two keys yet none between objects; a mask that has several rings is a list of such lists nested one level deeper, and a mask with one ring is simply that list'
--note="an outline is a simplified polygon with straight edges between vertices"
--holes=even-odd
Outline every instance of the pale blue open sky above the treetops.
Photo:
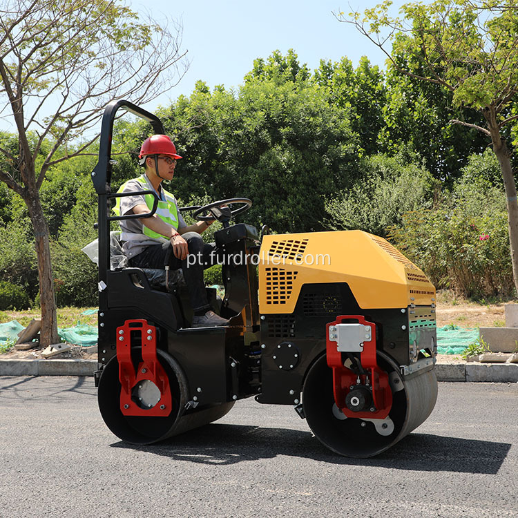
[{"label": "pale blue open sky above the treetops", "polygon": [[[379,1],[358,0],[131,0],[133,10],[147,10],[160,23],[169,17],[183,26],[182,48],[188,50],[191,66],[178,86],[164,93],[146,109],[167,105],[180,94],[190,95],[202,79],[209,87],[222,84],[237,87],[253,67],[253,60],[268,57],[274,50],[285,54],[293,48],[300,63],[311,70],[320,59],[338,61],[347,56],[356,66],[361,56],[373,64],[385,65],[383,52],[348,23],[332,14],[363,11]],[[403,1],[394,1],[397,15]]]}]

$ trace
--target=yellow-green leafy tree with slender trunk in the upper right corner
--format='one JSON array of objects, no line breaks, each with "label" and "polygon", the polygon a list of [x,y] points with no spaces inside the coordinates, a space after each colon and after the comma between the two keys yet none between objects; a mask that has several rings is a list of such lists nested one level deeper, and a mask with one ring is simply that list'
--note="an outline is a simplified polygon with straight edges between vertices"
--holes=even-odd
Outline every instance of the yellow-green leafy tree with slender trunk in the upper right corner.
[{"label": "yellow-green leafy tree with slender trunk in the upper right corner", "polygon": [[[518,1],[407,3],[401,8],[403,19],[387,14],[391,4],[385,0],[367,9],[363,17],[352,13],[348,21],[384,50],[400,73],[447,90],[459,108],[452,124],[480,131],[490,140],[506,190],[512,271],[518,290],[518,198],[506,139],[510,132],[504,128],[518,118],[513,112],[518,93]],[[391,52],[385,50],[389,41]],[[405,64],[398,61],[401,55],[406,57]],[[419,66],[414,68],[414,64]],[[479,117],[463,120],[461,106],[477,110]]]}]

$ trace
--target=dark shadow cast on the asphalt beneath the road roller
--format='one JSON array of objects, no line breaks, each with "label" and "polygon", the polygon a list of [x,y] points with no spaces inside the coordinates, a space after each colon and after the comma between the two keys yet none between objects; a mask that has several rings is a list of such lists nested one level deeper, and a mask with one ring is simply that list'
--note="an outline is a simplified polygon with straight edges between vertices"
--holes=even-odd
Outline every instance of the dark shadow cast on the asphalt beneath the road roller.
[{"label": "dark shadow cast on the asphalt beneath the road roller", "polygon": [[378,457],[349,459],[327,450],[311,432],[218,423],[153,445],[121,441],[111,446],[214,466],[287,455],[350,466],[483,474],[496,474],[511,447],[508,443],[410,434]]}]

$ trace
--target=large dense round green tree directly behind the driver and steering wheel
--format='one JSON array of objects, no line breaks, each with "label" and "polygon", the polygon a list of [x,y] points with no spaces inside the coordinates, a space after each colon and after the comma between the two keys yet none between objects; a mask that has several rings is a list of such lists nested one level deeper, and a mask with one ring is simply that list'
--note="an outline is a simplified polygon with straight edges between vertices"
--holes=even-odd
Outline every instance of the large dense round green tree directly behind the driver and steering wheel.
[{"label": "large dense round green tree directly behind the driver and steering wheel", "polygon": [[278,231],[322,229],[323,196],[358,176],[358,137],[294,54],[256,60],[237,93],[198,83],[164,111],[184,160],[173,192],[252,198],[247,220]]}]

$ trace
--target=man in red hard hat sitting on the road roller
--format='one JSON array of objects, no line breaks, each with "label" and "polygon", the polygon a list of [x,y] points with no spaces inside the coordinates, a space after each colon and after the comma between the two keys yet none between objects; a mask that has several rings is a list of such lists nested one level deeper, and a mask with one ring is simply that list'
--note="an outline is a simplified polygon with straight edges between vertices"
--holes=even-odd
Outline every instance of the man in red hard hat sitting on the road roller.
[{"label": "man in red hard hat sitting on the road roller", "polygon": [[[215,244],[204,244],[200,234],[214,220],[187,225],[175,197],[162,186],[162,180],[173,179],[180,158],[167,135],[152,135],[144,140],[139,154],[144,174],[128,180],[118,192],[155,191],[160,201],[156,213],[149,218],[119,220],[122,249],[133,267],[163,269],[168,249],[172,247],[169,267],[183,271],[194,311],[192,327],[228,325],[228,320],[210,310],[203,280],[203,270],[215,262]],[[124,196],[117,198],[113,210],[117,215],[144,214],[151,212],[153,202],[151,194]]]}]

